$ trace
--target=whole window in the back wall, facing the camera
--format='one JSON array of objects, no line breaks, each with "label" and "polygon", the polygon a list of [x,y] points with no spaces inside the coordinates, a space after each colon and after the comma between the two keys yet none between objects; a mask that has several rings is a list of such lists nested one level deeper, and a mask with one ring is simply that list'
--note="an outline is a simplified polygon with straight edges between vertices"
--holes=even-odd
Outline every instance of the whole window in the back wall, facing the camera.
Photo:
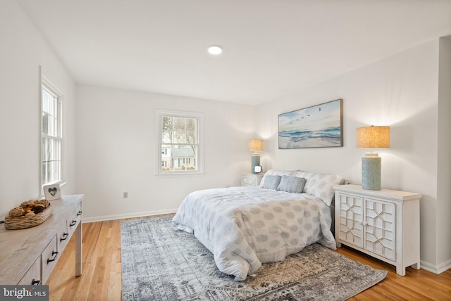
[{"label": "whole window in the back wall, facing the camera", "polygon": [[202,114],[157,111],[159,170],[157,174],[201,173]]}]

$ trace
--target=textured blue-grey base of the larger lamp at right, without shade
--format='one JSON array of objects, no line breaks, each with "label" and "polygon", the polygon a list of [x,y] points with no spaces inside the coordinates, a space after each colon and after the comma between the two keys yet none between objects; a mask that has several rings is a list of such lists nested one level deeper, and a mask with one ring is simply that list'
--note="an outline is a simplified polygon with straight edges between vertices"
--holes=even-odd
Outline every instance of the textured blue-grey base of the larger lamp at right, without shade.
[{"label": "textured blue-grey base of the larger lamp at right, without shade", "polygon": [[362,158],[362,189],[381,190],[381,160],[377,153]]}]

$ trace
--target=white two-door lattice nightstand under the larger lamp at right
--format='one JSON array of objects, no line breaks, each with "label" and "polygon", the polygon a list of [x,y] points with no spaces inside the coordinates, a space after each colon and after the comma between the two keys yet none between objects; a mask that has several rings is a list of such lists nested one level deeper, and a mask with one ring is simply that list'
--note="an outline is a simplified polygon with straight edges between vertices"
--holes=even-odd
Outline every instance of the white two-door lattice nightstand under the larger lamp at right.
[{"label": "white two-door lattice nightstand under the larger lamp at right", "polygon": [[335,241],[396,267],[420,268],[419,193],[364,190],[340,185],[335,189]]}]

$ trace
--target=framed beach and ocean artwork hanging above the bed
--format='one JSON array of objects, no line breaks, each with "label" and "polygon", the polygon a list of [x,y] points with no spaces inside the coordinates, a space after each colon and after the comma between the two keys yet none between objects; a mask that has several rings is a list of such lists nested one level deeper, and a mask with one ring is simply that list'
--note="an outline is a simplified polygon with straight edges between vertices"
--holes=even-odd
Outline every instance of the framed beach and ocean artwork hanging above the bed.
[{"label": "framed beach and ocean artwork hanging above the bed", "polygon": [[343,146],[342,99],[279,115],[279,149]]}]

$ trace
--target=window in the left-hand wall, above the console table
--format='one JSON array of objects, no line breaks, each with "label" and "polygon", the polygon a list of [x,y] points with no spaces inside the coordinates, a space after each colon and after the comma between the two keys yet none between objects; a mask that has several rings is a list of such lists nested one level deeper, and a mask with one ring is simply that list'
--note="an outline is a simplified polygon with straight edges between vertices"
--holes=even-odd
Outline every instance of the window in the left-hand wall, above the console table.
[{"label": "window in the left-hand wall, above the console table", "polygon": [[41,185],[61,183],[61,93],[42,81]]}]

